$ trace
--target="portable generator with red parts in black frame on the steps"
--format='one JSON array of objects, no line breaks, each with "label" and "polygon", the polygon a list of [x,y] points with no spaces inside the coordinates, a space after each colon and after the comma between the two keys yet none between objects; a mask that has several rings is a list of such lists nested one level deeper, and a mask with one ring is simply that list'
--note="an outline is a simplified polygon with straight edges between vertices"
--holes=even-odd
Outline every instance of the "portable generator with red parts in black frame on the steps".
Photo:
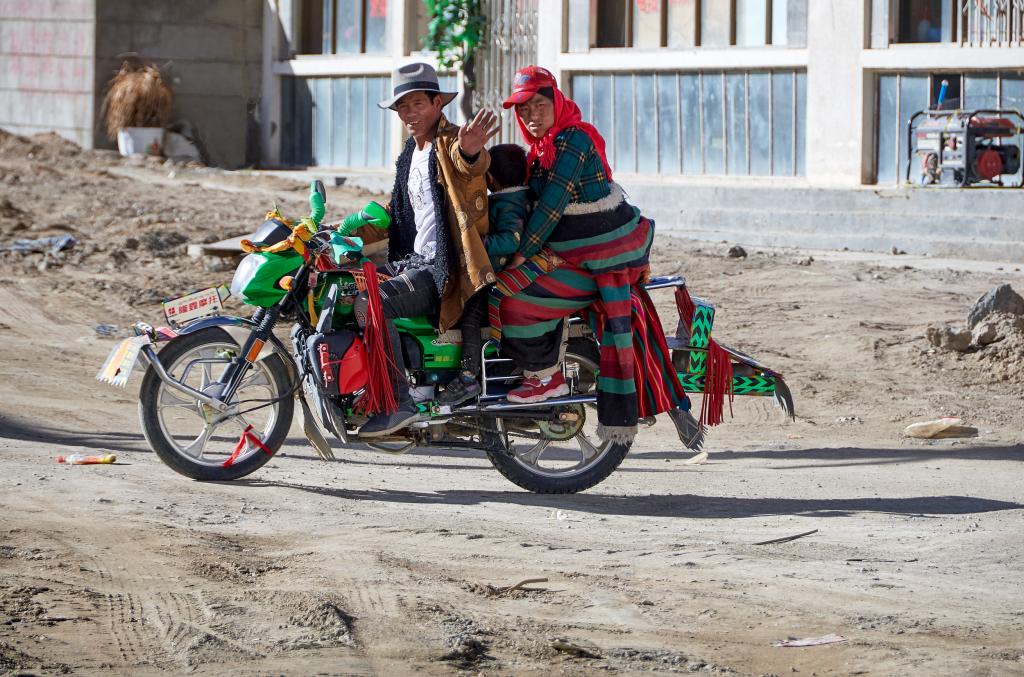
[{"label": "portable generator with red parts in black frame on the steps", "polygon": [[919,111],[907,122],[906,180],[1020,187],[1022,128],[1024,117],[1016,110]]}]

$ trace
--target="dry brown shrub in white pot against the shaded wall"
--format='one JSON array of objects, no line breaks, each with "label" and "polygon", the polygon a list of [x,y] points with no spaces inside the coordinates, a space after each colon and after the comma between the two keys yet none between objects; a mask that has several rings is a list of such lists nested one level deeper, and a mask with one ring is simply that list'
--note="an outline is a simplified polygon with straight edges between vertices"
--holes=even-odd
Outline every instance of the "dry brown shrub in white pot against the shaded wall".
[{"label": "dry brown shrub in white pot against the shaded wall", "polygon": [[126,60],[103,94],[106,136],[116,139],[124,127],[164,127],[172,104],[171,87],[154,64]]}]

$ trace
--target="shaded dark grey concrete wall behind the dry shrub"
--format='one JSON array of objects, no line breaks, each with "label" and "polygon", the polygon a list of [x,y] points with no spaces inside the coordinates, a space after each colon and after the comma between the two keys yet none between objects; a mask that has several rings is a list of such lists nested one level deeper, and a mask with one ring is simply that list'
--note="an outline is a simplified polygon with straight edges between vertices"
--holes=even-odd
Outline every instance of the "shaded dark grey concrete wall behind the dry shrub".
[{"label": "shaded dark grey concrete wall behind the dry shrub", "polygon": [[[263,0],[94,1],[96,110],[118,54],[135,52],[170,76],[171,121],[193,123],[211,163],[257,162]],[[114,147],[98,130],[95,139]]]}]

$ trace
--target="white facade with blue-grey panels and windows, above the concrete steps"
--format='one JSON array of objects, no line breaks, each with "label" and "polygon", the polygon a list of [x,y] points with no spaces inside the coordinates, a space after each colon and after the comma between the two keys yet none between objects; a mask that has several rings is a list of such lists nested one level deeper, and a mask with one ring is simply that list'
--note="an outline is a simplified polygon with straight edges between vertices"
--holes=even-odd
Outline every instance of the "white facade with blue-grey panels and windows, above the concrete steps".
[{"label": "white facade with blue-grey panels and windows, above the concrete steps", "polygon": [[[905,121],[939,83],[964,108],[1024,109],[1024,3],[1002,0],[490,0],[474,108],[547,67],[623,176],[724,185],[895,186]],[[278,0],[264,54],[265,160],[391,164],[376,110],[426,33],[417,0]],[[508,69],[506,69],[508,71]],[[505,77],[500,77],[504,75]],[[450,83],[456,79],[450,77]],[[265,92],[266,93],[266,92]],[[280,130],[280,131],[279,131]]]}]

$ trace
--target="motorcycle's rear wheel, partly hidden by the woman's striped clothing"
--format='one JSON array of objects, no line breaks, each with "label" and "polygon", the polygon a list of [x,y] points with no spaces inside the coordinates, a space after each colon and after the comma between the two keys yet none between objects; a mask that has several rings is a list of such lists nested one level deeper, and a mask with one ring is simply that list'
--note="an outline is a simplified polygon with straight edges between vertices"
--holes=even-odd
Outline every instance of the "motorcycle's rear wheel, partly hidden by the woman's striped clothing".
[{"label": "motorcycle's rear wheel, partly hidden by the woman's striped clothing", "polygon": [[[565,368],[574,392],[587,393],[596,387],[599,354],[592,341],[569,342]],[[597,437],[597,409],[592,405],[560,407],[552,414],[532,420],[497,417],[494,431],[484,436],[490,442],[486,450],[490,463],[529,492],[586,491],[614,472],[630,451],[630,445],[602,442]]]}]

